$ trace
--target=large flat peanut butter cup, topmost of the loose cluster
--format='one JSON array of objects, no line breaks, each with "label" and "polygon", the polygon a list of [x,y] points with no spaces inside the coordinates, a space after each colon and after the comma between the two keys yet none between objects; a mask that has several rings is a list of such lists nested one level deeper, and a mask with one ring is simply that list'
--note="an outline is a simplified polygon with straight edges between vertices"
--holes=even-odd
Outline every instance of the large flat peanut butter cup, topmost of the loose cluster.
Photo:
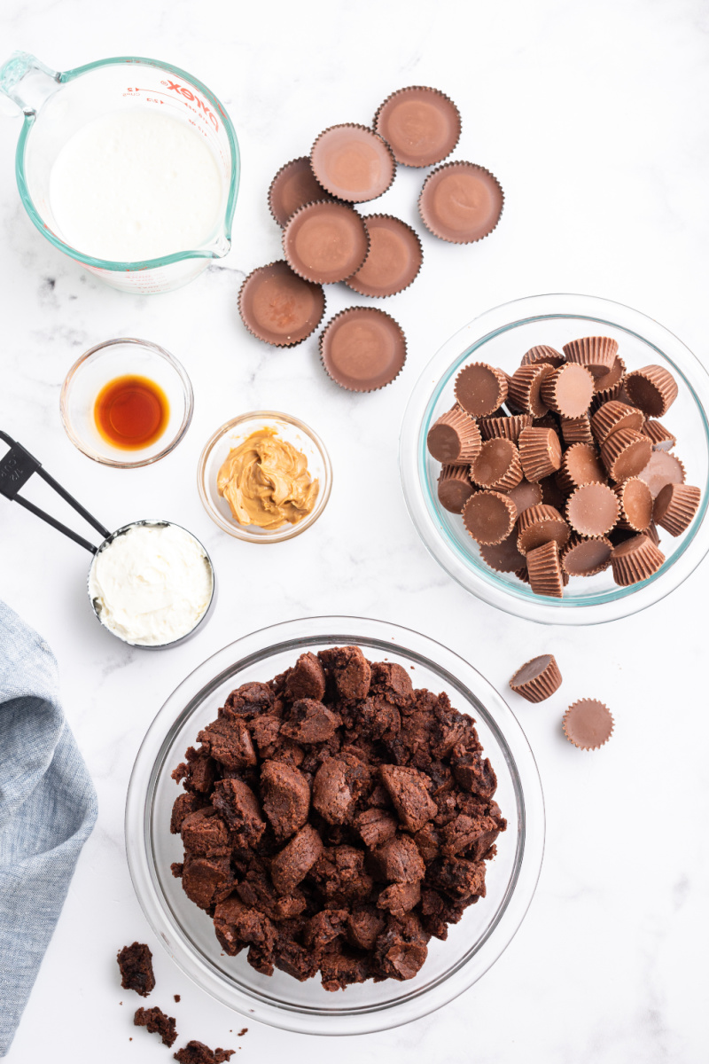
[{"label": "large flat peanut butter cup, topmost of the loose cluster", "polygon": [[372,126],[402,166],[435,166],[460,138],[460,112],[440,89],[409,85],[379,104]]}]

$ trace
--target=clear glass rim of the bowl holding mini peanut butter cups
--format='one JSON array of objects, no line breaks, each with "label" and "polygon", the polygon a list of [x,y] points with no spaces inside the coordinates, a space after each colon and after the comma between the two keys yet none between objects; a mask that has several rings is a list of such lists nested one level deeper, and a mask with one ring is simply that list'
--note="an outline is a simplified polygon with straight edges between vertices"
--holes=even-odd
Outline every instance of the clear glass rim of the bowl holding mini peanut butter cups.
[{"label": "clear glass rim of the bowl holding mini peanut butter cups", "polygon": [[[504,581],[484,563],[465,552],[441,519],[438,500],[428,487],[425,471],[426,435],[433,410],[458,368],[488,340],[519,326],[547,319],[585,319],[610,326],[653,347],[674,369],[694,399],[709,451],[709,375],[690,349],[668,329],[623,303],[598,296],[570,293],[526,296],[494,306],[473,318],[451,337],[431,360],[409,398],[400,436],[400,471],[404,499],[424,546],[439,565],[466,591],[505,613],[544,625],[598,625],[627,617],[653,605],[679,586],[709,550],[709,477],[702,489],[696,516],[676,555],[648,580],[630,587],[615,587],[593,596],[568,595],[562,599],[534,595],[520,581]],[[462,353],[461,353],[462,352]]]}]

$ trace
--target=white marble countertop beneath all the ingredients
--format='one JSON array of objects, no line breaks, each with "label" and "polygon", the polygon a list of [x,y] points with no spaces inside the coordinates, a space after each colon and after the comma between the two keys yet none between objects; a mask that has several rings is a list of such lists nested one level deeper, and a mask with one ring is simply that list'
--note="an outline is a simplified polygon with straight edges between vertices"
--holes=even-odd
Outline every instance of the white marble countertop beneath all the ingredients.
[{"label": "white marble countertop beneath all the ingredients", "polygon": [[[396,448],[407,396],[432,354],[476,314],[517,297],[579,292],[615,299],[656,317],[705,356],[706,6],[124,0],[108,12],[88,0],[6,0],[0,26],[3,49],[27,49],[60,69],[129,53],[184,67],[226,104],[243,160],[229,257],[180,292],[133,298],[84,275],[33,229],[13,172],[20,121],[0,122],[0,426],[108,527],[150,515],[192,529],[221,585],[215,616],[193,641],[162,653],[130,651],[90,615],[87,555],[18,506],[0,506],[0,597],[56,653],[67,717],[100,802],[9,1060],[150,1064],[161,1052],[167,1060],[155,1036],[133,1029],[138,1002],[119,988],[115,953],[134,938],[153,948],[156,1002],[182,995],[174,1008],[181,1033],[241,1046],[235,1060],[703,1059],[709,730],[698,682],[709,567],[661,604],[610,627],[569,631],[508,617],[469,597],[423,549],[401,495]],[[410,83],[440,86],[457,101],[463,133],[456,156],[500,177],[505,214],[482,244],[437,242],[416,217],[421,174],[400,172],[375,209],[401,213],[423,239],[421,277],[386,304],[408,335],[408,362],[391,387],[354,396],[322,373],[315,339],[283,351],[249,336],[236,297],[244,272],[280,256],[280,231],[265,201],[278,166],[334,122],[371,120],[389,92]],[[328,290],[328,313],[349,296]],[[135,471],[88,461],[58,416],[71,363],[121,335],[172,351],[197,397],[178,450]],[[321,433],[335,486],[311,531],[256,550],[210,522],[195,470],[218,425],[264,406],[292,411]],[[33,497],[44,501],[38,489]],[[133,759],[176,683],[248,631],[328,613],[424,632],[503,692],[512,669],[538,652],[553,651],[564,675],[548,702],[509,699],[538,760],[547,810],[541,880],[517,937],[444,1010],[337,1043],[242,1021],[191,985],[142,916],[122,830]],[[559,729],[565,705],[586,695],[606,700],[617,720],[612,742],[593,754],[574,749]],[[249,1033],[239,1040],[244,1024]]]}]

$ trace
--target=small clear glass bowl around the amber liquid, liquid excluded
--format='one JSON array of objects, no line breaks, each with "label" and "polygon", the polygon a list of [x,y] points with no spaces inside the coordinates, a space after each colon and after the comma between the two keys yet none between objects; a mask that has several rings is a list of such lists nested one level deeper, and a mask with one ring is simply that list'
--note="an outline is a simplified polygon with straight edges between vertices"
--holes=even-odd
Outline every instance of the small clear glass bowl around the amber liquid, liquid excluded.
[{"label": "small clear glass bowl around the amber liquid, liquid excluded", "polygon": [[[99,433],[94,405],[101,388],[117,377],[147,377],[154,381],[170,405],[168,423],[162,435],[139,450],[113,447]],[[192,385],[178,360],[147,339],[107,339],[97,344],[73,364],[62,385],[60,408],[67,436],[87,458],[118,469],[151,465],[174,450],[190,421],[195,397]]]}]

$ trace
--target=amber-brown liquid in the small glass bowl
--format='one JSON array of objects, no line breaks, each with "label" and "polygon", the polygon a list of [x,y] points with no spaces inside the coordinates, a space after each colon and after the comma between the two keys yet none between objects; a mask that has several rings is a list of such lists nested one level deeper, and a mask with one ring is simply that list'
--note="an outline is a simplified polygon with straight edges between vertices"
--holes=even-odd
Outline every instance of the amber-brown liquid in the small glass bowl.
[{"label": "amber-brown liquid in the small glass bowl", "polygon": [[116,377],[104,384],[94,404],[97,429],[124,451],[150,447],[163,435],[169,418],[167,396],[147,377]]}]

